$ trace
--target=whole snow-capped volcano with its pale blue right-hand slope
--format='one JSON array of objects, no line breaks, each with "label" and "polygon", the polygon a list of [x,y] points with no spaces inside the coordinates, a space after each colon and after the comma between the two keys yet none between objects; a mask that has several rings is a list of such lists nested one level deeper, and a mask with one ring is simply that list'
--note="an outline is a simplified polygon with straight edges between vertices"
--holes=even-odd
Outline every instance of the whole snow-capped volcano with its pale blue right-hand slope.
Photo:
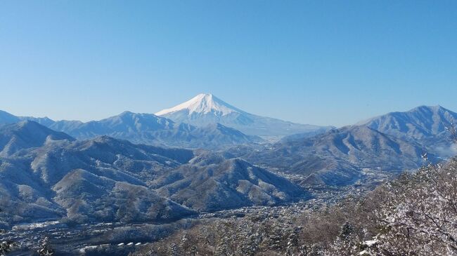
[{"label": "whole snow-capped volcano with its pale blue right-hand slope", "polygon": [[164,109],[156,113],[177,123],[190,123],[194,126],[207,126],[221,123],[224,126],[235,128],[247,135],[258,136],[285,136],[295,133],[312,133],[318,130],[328,130],[330,127],[312,126],[291,123],[279,119],[249,114],[233,107],[211,94],[200,94],[191,100],[171,109]]}]

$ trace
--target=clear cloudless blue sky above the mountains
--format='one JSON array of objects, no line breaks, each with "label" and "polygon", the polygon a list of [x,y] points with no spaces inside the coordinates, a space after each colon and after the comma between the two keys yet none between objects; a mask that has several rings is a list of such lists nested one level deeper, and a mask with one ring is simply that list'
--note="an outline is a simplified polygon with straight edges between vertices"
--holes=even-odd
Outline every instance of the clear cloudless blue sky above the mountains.
[{"label": "clear cloudless blue sky above the mountains", "polygon": [[457,1],[1,1],[0,109],[88,121],[213,93],[342,126],[457,111]]}]

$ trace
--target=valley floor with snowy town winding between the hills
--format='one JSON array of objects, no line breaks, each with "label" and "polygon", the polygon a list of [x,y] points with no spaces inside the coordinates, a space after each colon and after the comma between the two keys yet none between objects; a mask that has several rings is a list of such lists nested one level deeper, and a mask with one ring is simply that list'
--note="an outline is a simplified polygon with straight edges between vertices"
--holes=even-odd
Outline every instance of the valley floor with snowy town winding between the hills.
[{"label": "valley floor with snowy town winding between the hills", "polygon": [[[289,176],[300,180],[300,175]],[[13,253],[8,255],[27,255],[37,247],[39,239],[48,237],[58,255],[127,255],[147,248],[176,230],[188,229],[196,224],[213,220],[231,220],[246,216],[298,215],[335,205],[347,197],[361,197],[372,191],[378,182],[391,179],[390,175],[367,171],[361,182],[346,187],[311,186],[306,190],[311,194],[309,200],[284,203],[278,206],[249,206],[231,210],[200,212],[170,222],[94,222],[87,224],[65,223],[60,219],[46,222],[17,224],[11,230],[0,234],[2,241],[14,241]]]}]

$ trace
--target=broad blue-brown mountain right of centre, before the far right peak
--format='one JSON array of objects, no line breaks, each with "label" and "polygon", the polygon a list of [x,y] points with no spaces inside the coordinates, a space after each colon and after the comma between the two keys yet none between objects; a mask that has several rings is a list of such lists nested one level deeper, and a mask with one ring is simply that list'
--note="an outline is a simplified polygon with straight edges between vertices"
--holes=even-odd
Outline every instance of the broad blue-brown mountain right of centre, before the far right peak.
[{"label": "broad blue-brown mountain right of centre, before the far right peak", "polygon": [[313,182],[341,185],[358,179],[363,168],[418,168],[423,164],[421,156],[425,151],[417,142],[367,126],[347,126],[314,137],[285,140],[262,150],[236,147],[226,154],[286,173],[310,175]]}]

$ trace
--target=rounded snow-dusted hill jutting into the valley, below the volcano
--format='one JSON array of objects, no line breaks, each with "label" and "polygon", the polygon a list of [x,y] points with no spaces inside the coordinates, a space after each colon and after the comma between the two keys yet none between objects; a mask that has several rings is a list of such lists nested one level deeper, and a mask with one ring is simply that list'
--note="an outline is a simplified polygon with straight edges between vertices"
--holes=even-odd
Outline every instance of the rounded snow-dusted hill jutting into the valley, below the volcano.
[{"label": "rounded snow-dusted hill jutting into the valley, below the volcano", "polygon": [[[204,164],[199,164],[204,163]],[[241,159],[200,159],[157,177],[157,192],[194,210],[271,206],[307,193],[283,177]]]}]

